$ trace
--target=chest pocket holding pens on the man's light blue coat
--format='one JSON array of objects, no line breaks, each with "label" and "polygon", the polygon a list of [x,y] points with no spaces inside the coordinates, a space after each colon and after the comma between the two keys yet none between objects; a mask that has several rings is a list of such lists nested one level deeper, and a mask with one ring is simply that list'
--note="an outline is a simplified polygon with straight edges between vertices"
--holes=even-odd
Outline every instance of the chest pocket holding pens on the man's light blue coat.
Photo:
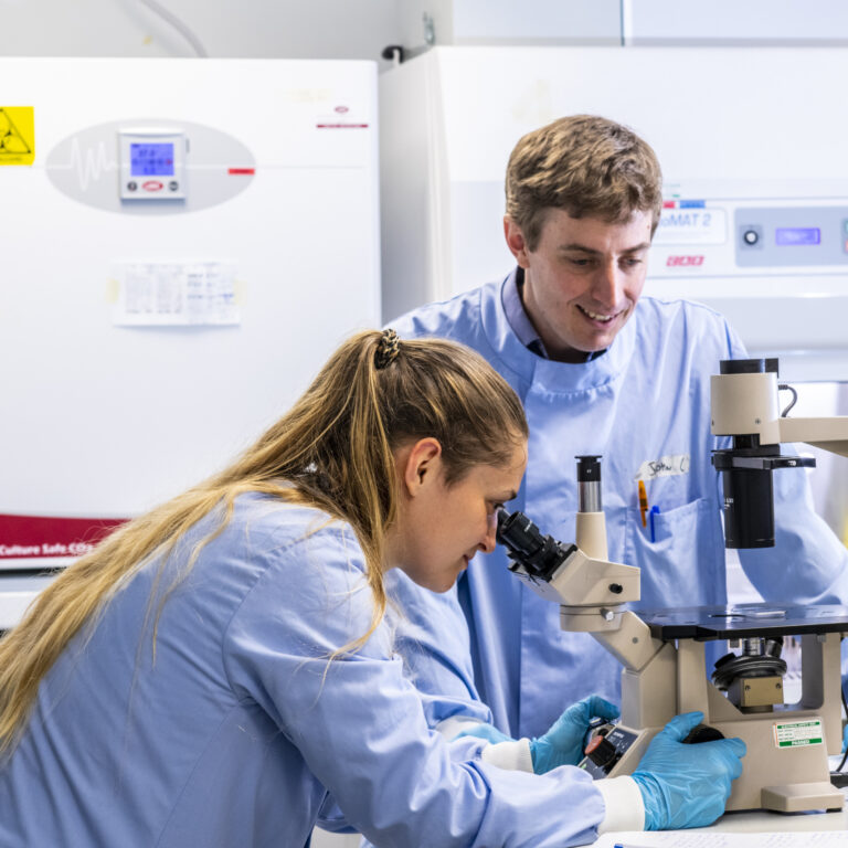
[{"label": "chest pocket holding pens on the man's light blue coat", "polygon": [[647,519],[643,527],[639,510],[627,509],[624,562],[642,569],[642,600],[635,606],[724,603],[724,544],[716,501],[699,498],[655,512],[653,539]]}]

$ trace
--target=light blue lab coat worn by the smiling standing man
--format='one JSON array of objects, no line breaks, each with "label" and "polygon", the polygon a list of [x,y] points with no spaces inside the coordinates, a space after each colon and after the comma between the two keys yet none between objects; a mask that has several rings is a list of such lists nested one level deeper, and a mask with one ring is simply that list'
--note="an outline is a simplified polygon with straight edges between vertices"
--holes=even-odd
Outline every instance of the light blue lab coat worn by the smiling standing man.
[{"label": "light blue lab coat worn by the smiling standing man", "polygon": [[[468,344],[521,398],[529,464],[508,509],[573,541],[574,456],[600,454],[610,556],[642,569],[639,606],[724,603],[722,499],[710,452],[729,443],[710,434],[710,375],[720,360],[746,356],[739,338],[704,306],[643,297],[603,356],[553,362],[513,332],[502,285],[422,307],[391,326],[401,338]],[[660,509],[654,540],[638,508],[640,470],[649,504]],[[766,600],[846,603],[848,552],[815,515],[804,473],[773,477],[776,547],[741,551],[745,573]],[[393,582],[409,611],[403,650],[431,722],[463,714],[492,720],[488,704],[500,730],[534,736],[579,698],[598,692],[618,700],[621,666],[591,636],[563,633],[558,605],[507,570],[502,549],[475,558],[458,592],[427,595],[402,575]]]}]

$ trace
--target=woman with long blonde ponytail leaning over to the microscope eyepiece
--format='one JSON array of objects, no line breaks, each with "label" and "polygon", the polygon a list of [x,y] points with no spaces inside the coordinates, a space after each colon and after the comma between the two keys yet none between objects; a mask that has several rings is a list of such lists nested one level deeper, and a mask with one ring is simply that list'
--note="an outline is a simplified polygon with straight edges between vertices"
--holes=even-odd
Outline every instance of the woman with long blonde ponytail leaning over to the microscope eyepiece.
[{"label": "woman with long blonde ponytail leaning over to the microscope eyepiece", "polygon": [[383,621],[386,569],[444,592],[491,550],[526,459],[521,405],[476,353],[342,344],[243,456],[0,642],[0,845],[301,848],[330,808],[380,846],[594,839],[615,791],[428,730]]}]

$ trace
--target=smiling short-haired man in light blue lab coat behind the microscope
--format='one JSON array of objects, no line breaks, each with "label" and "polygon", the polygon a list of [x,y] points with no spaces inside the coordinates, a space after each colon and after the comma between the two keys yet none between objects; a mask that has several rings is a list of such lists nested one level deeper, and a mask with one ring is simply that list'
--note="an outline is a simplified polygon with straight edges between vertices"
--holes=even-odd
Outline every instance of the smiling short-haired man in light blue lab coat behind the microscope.
[{"label": "smiling short-haired man in light blue lab coat behind the microscope", "polygon": [[[574,456],[603,456],[610,558],[642,569],[644,608],[727,601],[720,481],[710,462],[710,375],[744,358],[728,322],[685,300],[642,297],[662,205],[651,148],[593,116],[521,138],[509,160],[505,279],[391,322],[401,337],[442,336],[478,350],[521,398],[529,465],[510,510],[574,538]],[[484,411],[485,414],[485,411]],[[639,481],[653,522],[643,521]],[[848,552],[812,507],[805,475],[774,474],[776,547],[740,551],[770,601],[845,603]],[[510,736],[543,733],[598,692],[617,701],[621,667],[591,636],[560,629],[556,604],[478,554],[446,595],[402,576],[401,639],[431,723],[473,722]],[[477,728],[487,733],[484,727]]]}]

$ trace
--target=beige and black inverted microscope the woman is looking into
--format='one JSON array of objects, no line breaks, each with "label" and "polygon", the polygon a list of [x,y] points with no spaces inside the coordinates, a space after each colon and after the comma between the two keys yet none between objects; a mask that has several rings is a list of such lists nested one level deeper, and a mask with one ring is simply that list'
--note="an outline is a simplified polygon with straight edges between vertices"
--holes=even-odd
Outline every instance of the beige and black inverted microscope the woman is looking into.
[{"label": "beige and black inverted microscope the woman is looking into", "polygon": [[[722,475],[728,548],[774,545],[772,474],[815,463],[781,455],[782,442],[807,442],[848,456],[848,417],[789,418],[783,413],[777,360],[725,360],[711,381],[712,433],[731,436],[713,452]],[[521,512],[501,510],[498,541],[510,570],[560,604],[564,630],[590,633],[622,664],[622,714],[590,742],[580,764],[595,778],[635,771],[648,743],[674,716],[700,710],[687,742],[739,736],[748,746],[727,809],[783,813],[841,809],[828,754],[841,750],[841,635],[848,607],[792,604],[658,610],[639,614],[639,569],[610,562],[600,457],[577,457],[576,542],[544,536]],[[801,640],[802,693],[784,703],[783,639]],[[704,644],[740,650],[708,678]]]}]

